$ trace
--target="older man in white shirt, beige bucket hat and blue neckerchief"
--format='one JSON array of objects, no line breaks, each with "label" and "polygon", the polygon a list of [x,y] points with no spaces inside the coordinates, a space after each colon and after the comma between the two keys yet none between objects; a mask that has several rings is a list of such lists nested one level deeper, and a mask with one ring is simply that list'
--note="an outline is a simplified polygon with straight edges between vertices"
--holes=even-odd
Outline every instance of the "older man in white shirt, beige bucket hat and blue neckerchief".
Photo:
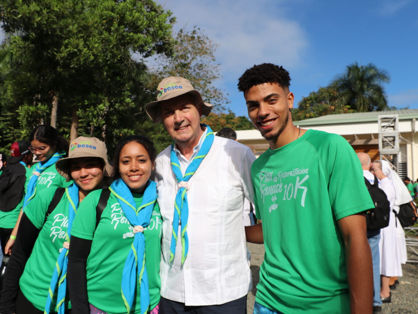
[{"label": "older man in white shirt, beige bucket hat and blue neckerchief", "polygon": [[244,199],[252,201],[247,146],[213,136],[200,124],[212,105],[190,82],[165,78],[145,106],[173,138],[155,161],[163,218],[161,302],[164,313],[245,313],[251,271]]}]

